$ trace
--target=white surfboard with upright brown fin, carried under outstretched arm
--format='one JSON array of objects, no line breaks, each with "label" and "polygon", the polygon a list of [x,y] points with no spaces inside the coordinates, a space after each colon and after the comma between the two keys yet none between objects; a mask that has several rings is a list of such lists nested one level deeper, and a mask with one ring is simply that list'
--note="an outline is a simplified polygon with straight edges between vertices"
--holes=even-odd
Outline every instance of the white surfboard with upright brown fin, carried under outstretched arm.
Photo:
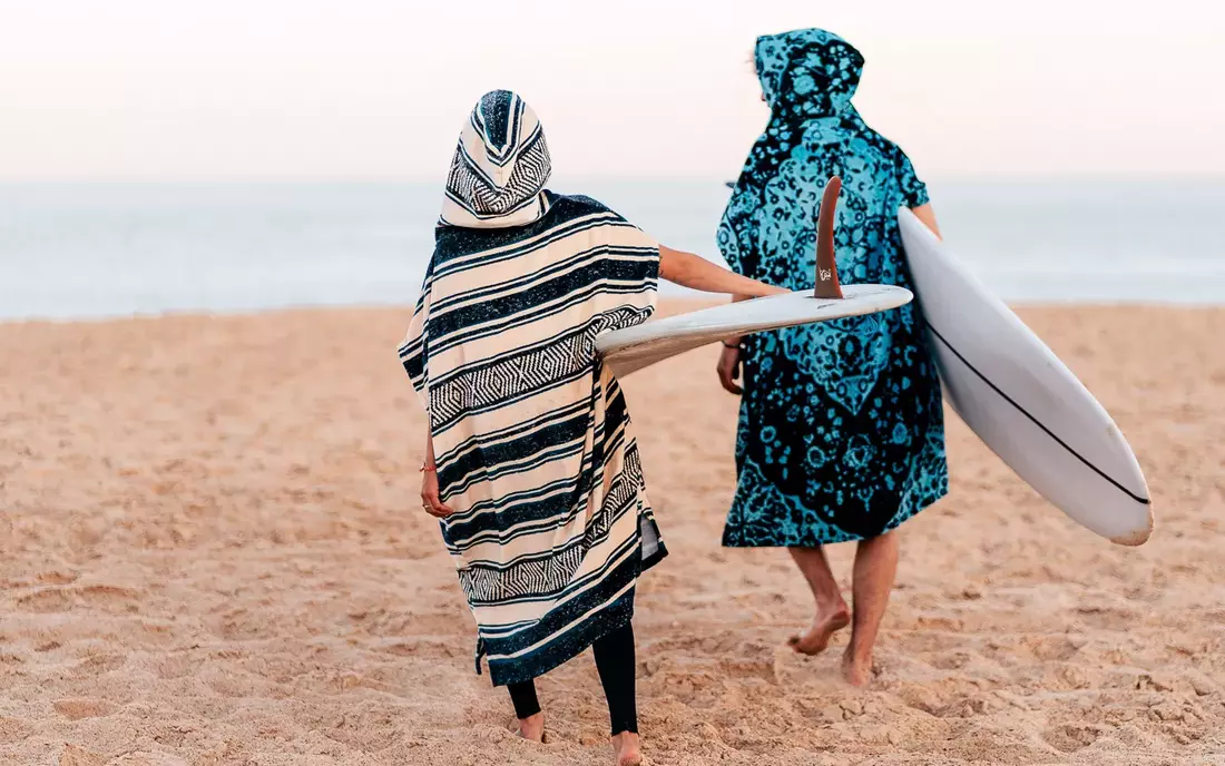
[{"label": "white surfboard with upright brown fin, carried under outstretched arm", "polygon": [[873,314],[910,303],[914,295],[888,284],[848,284],[843,298],[816,298],[812,292],[786,293],[729,303],[669,316],[595,339],[595,349],[617,377],[669,357],[736,335]]}]

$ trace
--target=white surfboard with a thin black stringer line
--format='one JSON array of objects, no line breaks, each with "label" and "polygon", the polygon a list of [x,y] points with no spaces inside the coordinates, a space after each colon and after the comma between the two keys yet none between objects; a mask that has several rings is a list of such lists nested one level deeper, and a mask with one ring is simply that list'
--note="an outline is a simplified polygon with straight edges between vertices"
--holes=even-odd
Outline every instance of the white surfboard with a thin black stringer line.
[{"label": "white surfboard with a thin black stringer line", "polygon": [[1136,455],[1098,400],[909,210],[902,241],[944,397],[1017,476],[1121,545],[1153,532]]}]

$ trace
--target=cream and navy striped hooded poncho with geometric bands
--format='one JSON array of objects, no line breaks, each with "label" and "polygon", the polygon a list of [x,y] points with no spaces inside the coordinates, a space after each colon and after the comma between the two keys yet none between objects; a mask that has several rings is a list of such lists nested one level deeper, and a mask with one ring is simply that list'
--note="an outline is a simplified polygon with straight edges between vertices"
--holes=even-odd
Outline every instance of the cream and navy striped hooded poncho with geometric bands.
[{"label": "cream and navy striped hooded poncho with geometric bands", "polygon": [[459,137],[399,349],[430,418],[442,539],[475,616],[477,670],[524,681],[633,613],[665,549],[625,398],[595,337],[654,308],[659,248],[588,197],[544,189],[549,152],[513,93]]}]

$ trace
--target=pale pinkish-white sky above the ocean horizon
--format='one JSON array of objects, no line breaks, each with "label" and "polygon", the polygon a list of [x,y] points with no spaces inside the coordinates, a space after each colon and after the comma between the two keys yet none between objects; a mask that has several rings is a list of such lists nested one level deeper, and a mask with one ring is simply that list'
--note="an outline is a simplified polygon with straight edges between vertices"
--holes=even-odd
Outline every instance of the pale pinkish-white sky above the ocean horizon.
[{"label": "pale pinkish-white sky above the ocean horizon", "polygon": [[0,180],[441,181],[499,87],[559,174],[730,179],[753,39],[807,26],[925,176],[1225,174],[1223,5],[0,0]]}]

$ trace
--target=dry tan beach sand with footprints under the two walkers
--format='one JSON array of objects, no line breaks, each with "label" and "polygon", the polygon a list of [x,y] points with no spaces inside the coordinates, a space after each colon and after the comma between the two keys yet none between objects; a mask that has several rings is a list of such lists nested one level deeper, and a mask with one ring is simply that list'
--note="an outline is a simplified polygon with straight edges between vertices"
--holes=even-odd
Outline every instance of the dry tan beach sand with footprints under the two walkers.
[{"label": "dry tan beach sand with footprints under the two walkers", "polygon": [[[473,674],[415,496],[405,319],[0,326],[0,762],[610,761],[589,656],[540,685],[546,746]],[[719,548],[715,349],[627,381],[673,552],[636,621],[652,762],[1225,764],[1225,310],[1024,319],[1132,440],[1156,533],[1073,526],[951,423],[867,691],[838,680],[845,635],[783,646],[811,609],[785,553]]]}]

